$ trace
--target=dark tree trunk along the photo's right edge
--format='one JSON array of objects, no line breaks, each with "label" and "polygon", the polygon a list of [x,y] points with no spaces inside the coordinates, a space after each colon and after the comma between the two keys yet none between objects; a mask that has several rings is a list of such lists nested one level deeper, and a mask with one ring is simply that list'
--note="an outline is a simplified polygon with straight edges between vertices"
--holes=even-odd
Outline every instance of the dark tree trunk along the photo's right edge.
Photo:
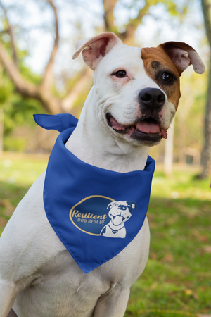
[{"label": "dark tree trunk along the photo's right edge", "polygon": [[[211,50],[211,1],[201,0],[203,16],[205,21],[205,30],[207,35],[207,40]],[[203,173],[200,178],[205,178],[210,175],[211,172],[211,54],[208,66],[208,83],[207,83],[207,101],[205,106],[205,144],[202,151],[202,164]]]}]

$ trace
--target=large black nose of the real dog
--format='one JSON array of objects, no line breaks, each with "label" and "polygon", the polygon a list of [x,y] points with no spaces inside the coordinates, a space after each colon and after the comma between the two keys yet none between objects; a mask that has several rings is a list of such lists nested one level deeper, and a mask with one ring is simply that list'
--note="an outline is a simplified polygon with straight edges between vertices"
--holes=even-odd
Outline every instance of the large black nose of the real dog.
[{"label": "large black nose of the real dog", "polygon": [[139,104],[151,108],[151,110],[161,110],[165,103],[165,94],[157,88],[145,88],[139,92]]}]

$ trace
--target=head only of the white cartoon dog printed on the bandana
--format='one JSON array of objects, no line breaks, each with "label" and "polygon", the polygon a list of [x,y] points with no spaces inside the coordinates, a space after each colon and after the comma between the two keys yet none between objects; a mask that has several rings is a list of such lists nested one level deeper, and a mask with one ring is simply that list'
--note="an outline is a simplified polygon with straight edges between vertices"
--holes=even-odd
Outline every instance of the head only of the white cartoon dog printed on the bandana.
[{"label": "head only of the white cartoon dog printed on the bandana", "polygon": [[132,216],[137,206],[134,201],[113,201],[108,205],[108,209],[108,216],[113,225],[122,225]]}]

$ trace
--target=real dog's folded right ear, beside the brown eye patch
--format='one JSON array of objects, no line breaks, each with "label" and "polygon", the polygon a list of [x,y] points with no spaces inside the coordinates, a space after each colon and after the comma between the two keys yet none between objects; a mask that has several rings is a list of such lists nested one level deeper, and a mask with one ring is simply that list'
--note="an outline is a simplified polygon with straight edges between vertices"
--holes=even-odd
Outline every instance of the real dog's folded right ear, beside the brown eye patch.
[{"label": "real dog's folded right ear, beside the brown eye patch", "polygon": [[172,59],[172,62],[177,66],[179,70],[179,75],[181,75],[184,70],[189,65],[193,65],[193,70],[198,74],[203,74],[205,72],[205,65],[201,60],[198,53],[190,45],[183,42],[166,42],[160,44],[158,49],[161,48],[165,53]]}]

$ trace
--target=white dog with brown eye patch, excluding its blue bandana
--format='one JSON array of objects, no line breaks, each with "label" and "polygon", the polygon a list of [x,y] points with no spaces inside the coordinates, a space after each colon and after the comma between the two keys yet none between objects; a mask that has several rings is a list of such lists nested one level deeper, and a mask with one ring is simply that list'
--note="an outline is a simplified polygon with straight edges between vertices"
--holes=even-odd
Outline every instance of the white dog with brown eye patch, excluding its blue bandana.
[{"label": "white dog with brown eye patch, excluding its blue bandana", "polygon": [[[127,46],[112,32],[78,41],[73,58],[80,53],[94,70],[94,86],[65,147],[99,168],[144,170],[149,148],[167,137],[177,111],[181,73],[191,64],[205,71],[200,56],[181,42]],[[124,316],[148,260],[147,218],[120,254],[85,274],[46,218],[44,179],[45,173],[34,182],[1,235],[0,316]]]}]

